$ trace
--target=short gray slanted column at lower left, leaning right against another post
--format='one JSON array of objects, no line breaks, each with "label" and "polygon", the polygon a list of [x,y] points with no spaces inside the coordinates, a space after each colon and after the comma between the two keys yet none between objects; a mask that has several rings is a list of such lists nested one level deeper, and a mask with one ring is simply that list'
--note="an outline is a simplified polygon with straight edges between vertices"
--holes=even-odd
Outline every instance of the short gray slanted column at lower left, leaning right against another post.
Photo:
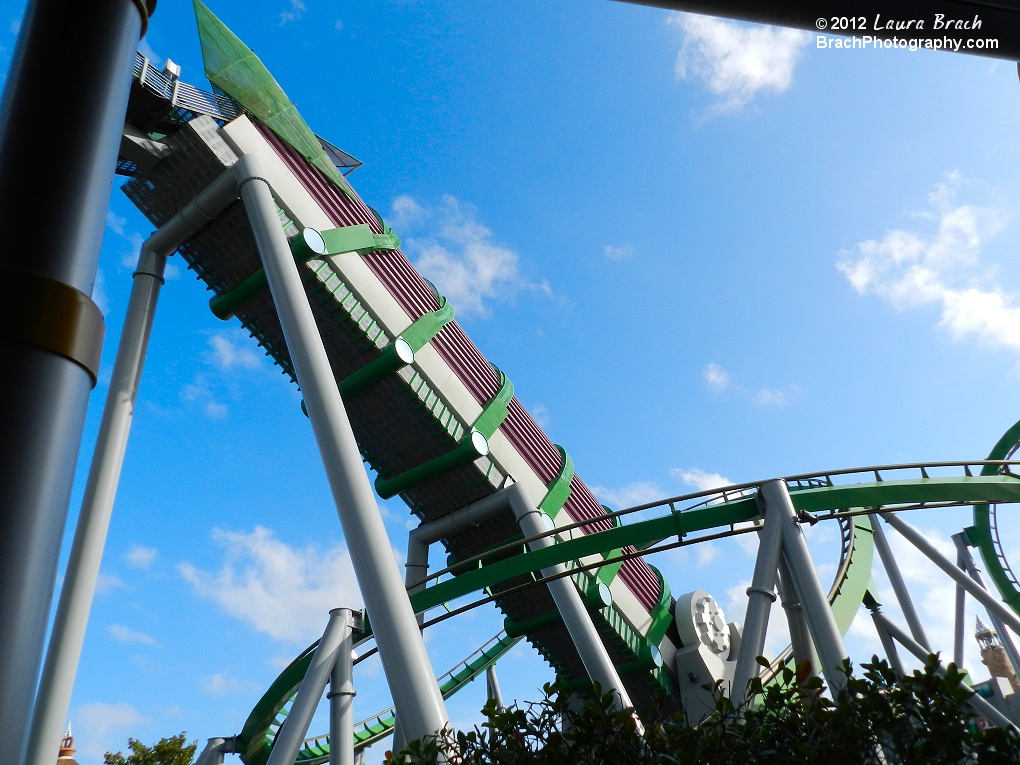
[{"label": "short gray slanted column at lower left, leaning right against another post", "polygon": [[340,647],[350,636],[351,629],[349,608],[335,608],[329,612],[325,631],[322,632],[318,648],[312,655],[298,694],[294,697],[294,705],[287,715],[287,722],[276,733],[276,741],[272,745],[272,752],[269,753],[266,765],[294,765],[298,752],[301,751],[301,745],[308,734],[308,726],[315,715],[315,709],[322,700],[334,665],[337,663]]}]

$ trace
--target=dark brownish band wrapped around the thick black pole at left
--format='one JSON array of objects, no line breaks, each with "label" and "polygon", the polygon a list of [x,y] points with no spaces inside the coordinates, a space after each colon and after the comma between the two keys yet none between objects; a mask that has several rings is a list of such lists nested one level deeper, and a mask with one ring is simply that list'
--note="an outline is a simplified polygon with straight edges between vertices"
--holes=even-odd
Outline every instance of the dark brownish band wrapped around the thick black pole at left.
[{"label": "dark brownish band wrapped around the thick black pole at left", "polygon": [[0,268],[0,334],[73,361],[96,387],[106,322],[84,292],[40,273]]}]

